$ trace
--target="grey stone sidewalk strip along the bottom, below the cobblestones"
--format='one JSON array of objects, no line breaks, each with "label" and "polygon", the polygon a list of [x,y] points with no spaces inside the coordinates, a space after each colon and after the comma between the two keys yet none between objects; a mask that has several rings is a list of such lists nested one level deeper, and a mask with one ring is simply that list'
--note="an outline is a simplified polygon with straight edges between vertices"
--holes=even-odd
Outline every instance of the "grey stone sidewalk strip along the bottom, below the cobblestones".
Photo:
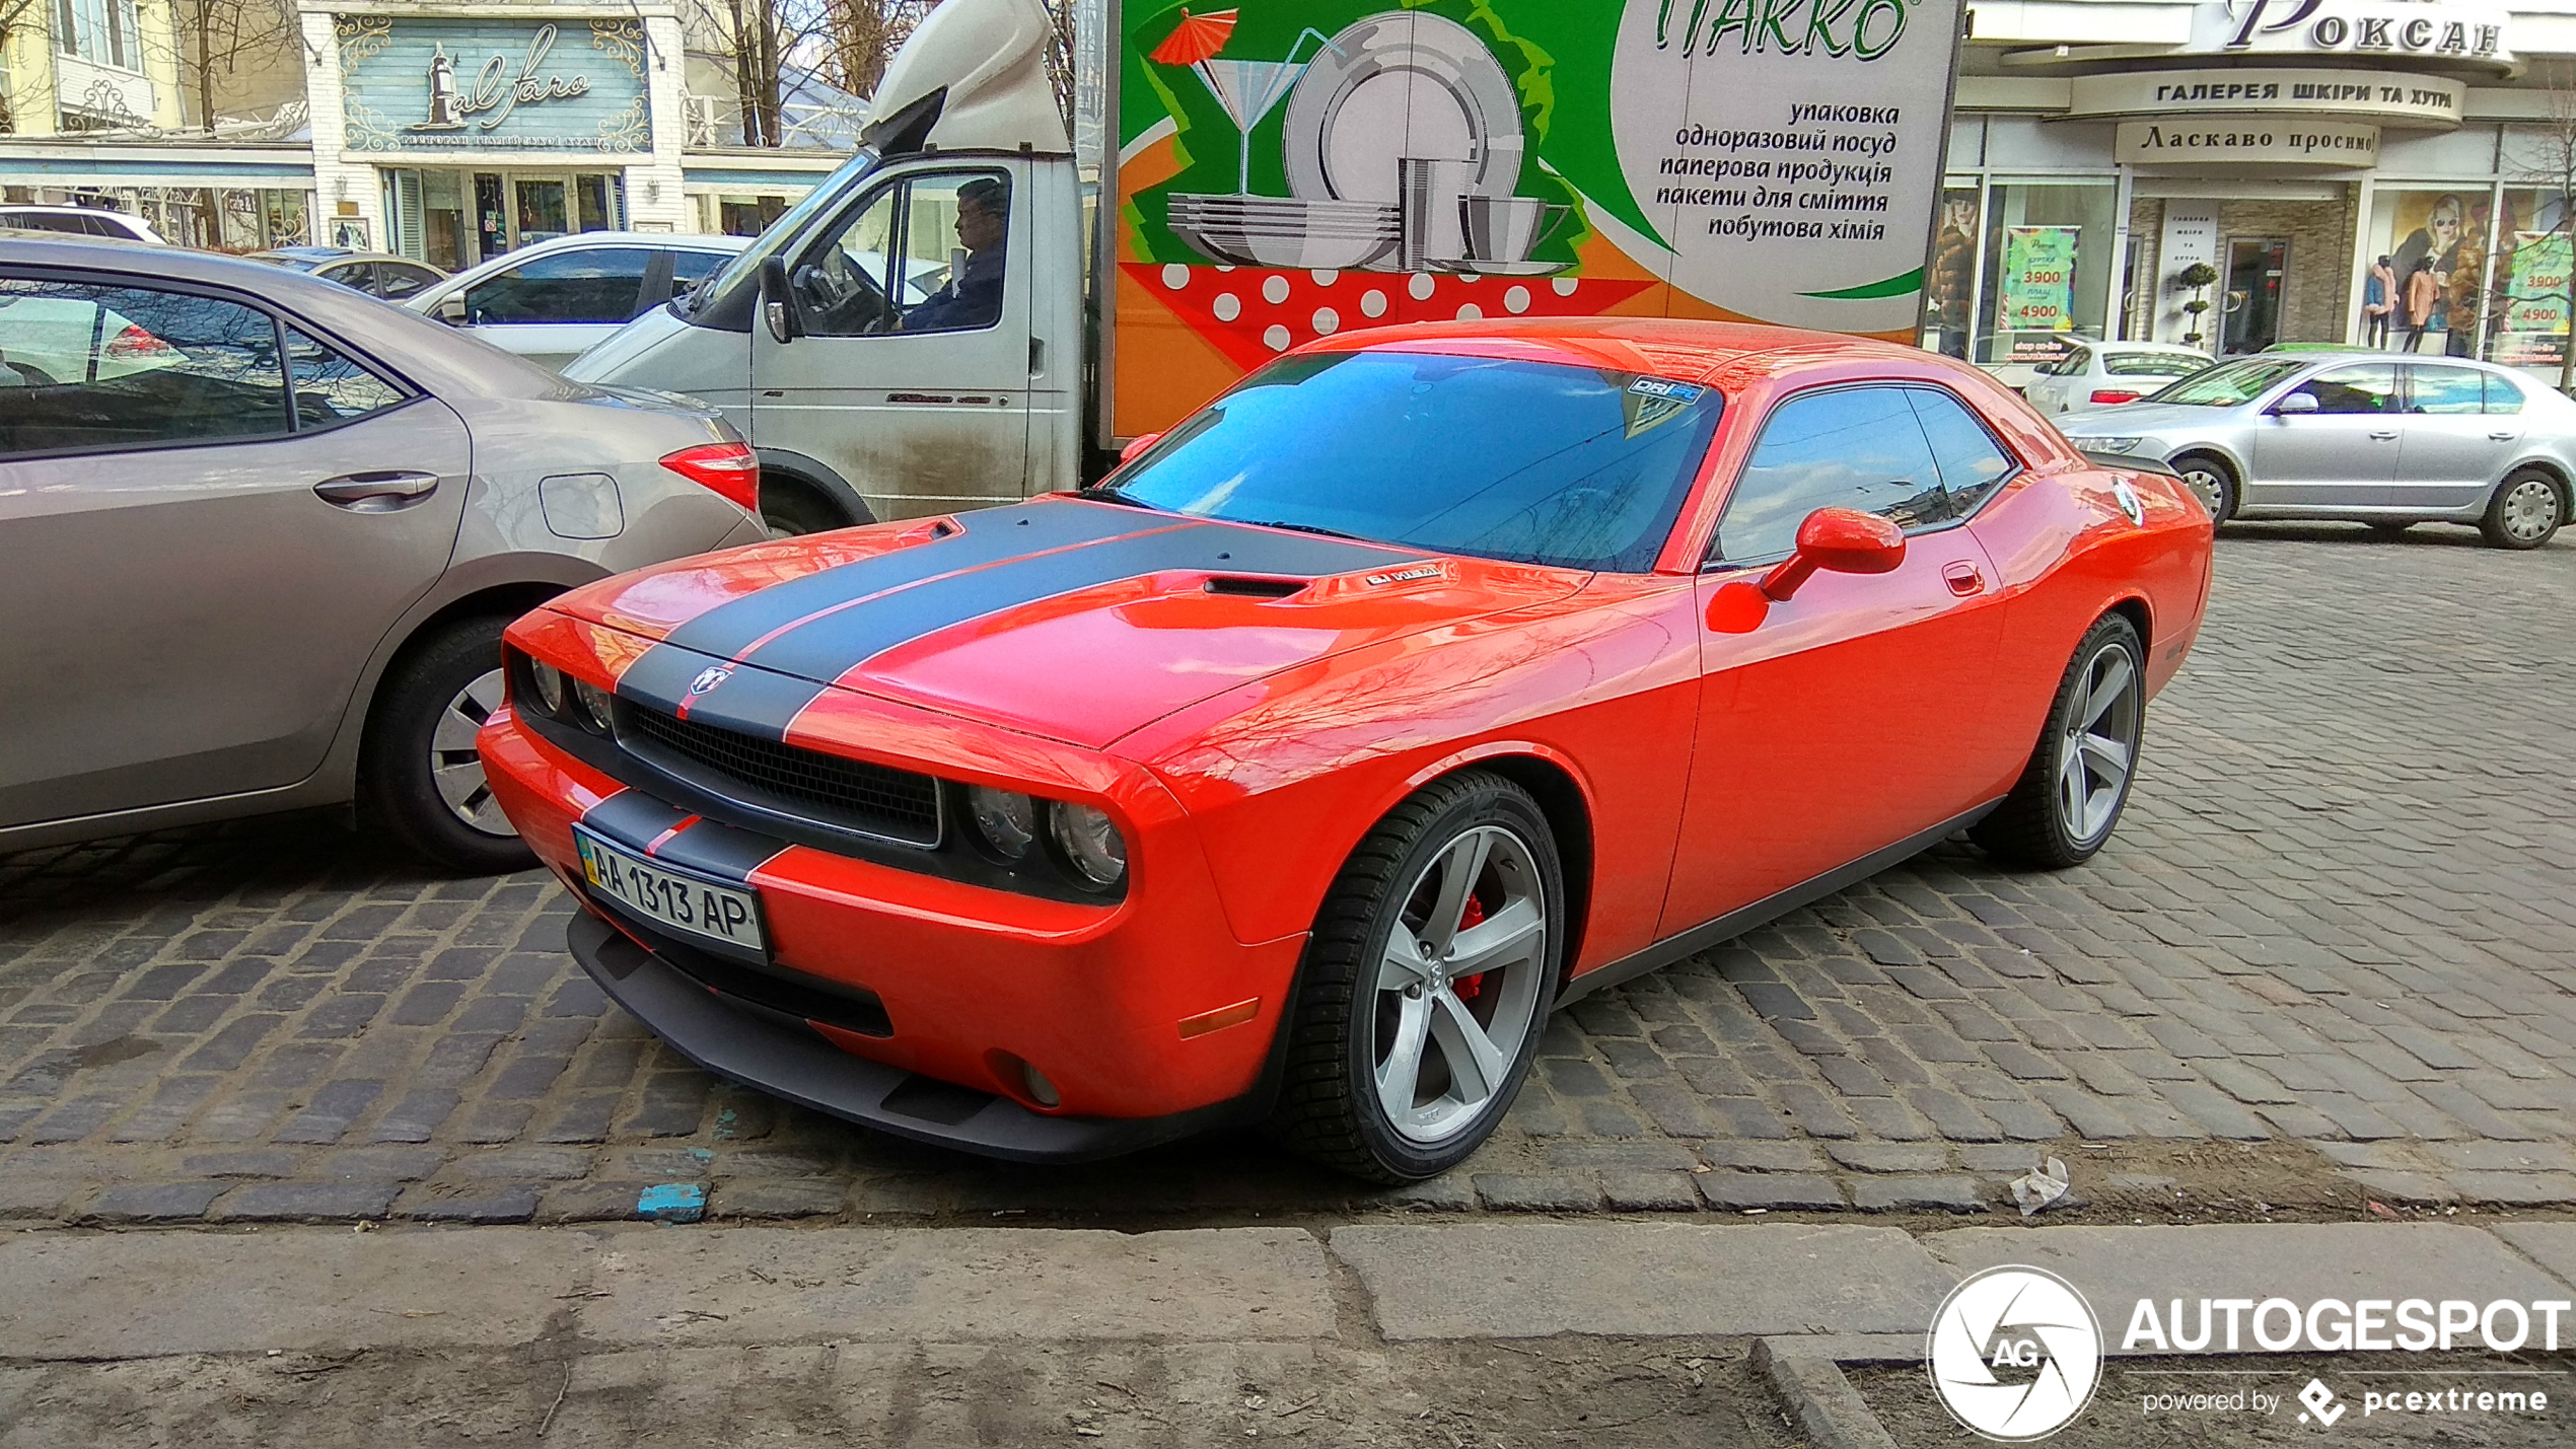
[{"label": "grey stone sidewalk strip along the bottom, below the cobblestones", "polygon": [[1904,1361],[2007,1261],[2117,1349],[2138,1297],[2576,1297],[2576,1223],[39,1230],[0,1446],[1785,1446],[1798,1364]]}]

